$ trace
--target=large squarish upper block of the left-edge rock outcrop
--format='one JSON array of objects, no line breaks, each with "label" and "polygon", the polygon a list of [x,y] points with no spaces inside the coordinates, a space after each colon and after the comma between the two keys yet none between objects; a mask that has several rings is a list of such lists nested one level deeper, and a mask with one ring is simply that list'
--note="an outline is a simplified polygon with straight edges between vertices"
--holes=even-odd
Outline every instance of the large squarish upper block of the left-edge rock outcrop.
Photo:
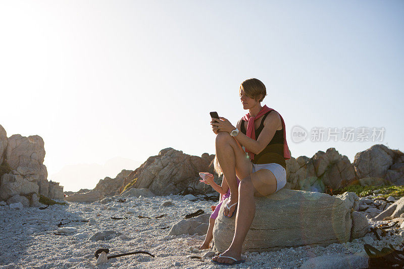
[{"label": "large squarish upper block of the left-edge rock outcrop", "polygon": [[15,134],[8,138],[7,162],[28,181],[36,182],[47,178],[46,167],[43,165],[44,157],[44,143],[40,136],[25,137]]}]

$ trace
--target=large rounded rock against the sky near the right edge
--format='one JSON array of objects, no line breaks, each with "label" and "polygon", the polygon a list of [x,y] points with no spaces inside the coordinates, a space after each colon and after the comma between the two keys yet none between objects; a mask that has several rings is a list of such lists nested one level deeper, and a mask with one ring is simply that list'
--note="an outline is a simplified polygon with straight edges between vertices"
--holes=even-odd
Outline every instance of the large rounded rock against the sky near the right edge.
[{"label": "large rounded rock against the sky near the right edge", "polygon": [[394,152],[385,145],[373,145],[355,155],[355,171],[359,178],[384,178],[393,164],[394,156]]}]

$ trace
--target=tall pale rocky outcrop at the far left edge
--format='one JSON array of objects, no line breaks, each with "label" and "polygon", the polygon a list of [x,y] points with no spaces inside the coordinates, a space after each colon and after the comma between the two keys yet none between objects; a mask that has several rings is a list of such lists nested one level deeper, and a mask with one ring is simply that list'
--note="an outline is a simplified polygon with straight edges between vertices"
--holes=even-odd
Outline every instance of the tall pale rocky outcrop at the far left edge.
[{"label": "tall pale rocky outcrop at the far left edge", "polygon": [[15,134],[7,138],[0,125],[0,165],[3,168],[0,170],[0,200],[9,200],[16,195],[30,197],[33,193],[63,199],[63,187],[57,182],[47,181],[44,157],[44,142],[40,136]]}]

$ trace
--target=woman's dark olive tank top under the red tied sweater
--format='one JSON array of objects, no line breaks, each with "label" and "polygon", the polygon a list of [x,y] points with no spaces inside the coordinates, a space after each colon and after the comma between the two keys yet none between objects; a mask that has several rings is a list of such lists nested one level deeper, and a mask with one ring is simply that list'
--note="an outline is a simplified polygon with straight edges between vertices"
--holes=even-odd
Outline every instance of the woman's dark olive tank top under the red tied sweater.
[{"label": "woman's dark olive tank top under the red tied sweater", "polygon": [[[267,118],[268,114],[272,111],[266,113],[261,120],[260,126],[256,129],[256,140],[260,135],[261,131],[264,129],[264,121]],[[241,120],[240,131],[243,134],[246,134],[246,130],[244,127],[244,120]],[[274,134],[272,140],[268,143],[268,145],[259,153],[254,156],[254,159],[251,161],[253,164],[279,164],[286,170],[286,162],[283,156],[283,128],[281,130],[277,130]]]}]

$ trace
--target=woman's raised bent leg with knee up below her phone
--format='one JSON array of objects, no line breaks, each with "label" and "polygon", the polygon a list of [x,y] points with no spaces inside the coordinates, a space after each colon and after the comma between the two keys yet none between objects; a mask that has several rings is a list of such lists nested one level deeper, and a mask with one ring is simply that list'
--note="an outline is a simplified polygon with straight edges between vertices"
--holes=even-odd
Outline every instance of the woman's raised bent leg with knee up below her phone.
[{"label": "woman's raised bent leg with knee up below her phone", "polygon": [[[236,170],[239,178],[249,176],[251,163],[236,140],[227,132],[220,132],[216,136],[216,156],[223,171],[224,177],[229,185],[230,197],[229,206],[238,201],[238,188],[236,182]],[[235,206],[225,208],[224,213],[231,216]]]}]

